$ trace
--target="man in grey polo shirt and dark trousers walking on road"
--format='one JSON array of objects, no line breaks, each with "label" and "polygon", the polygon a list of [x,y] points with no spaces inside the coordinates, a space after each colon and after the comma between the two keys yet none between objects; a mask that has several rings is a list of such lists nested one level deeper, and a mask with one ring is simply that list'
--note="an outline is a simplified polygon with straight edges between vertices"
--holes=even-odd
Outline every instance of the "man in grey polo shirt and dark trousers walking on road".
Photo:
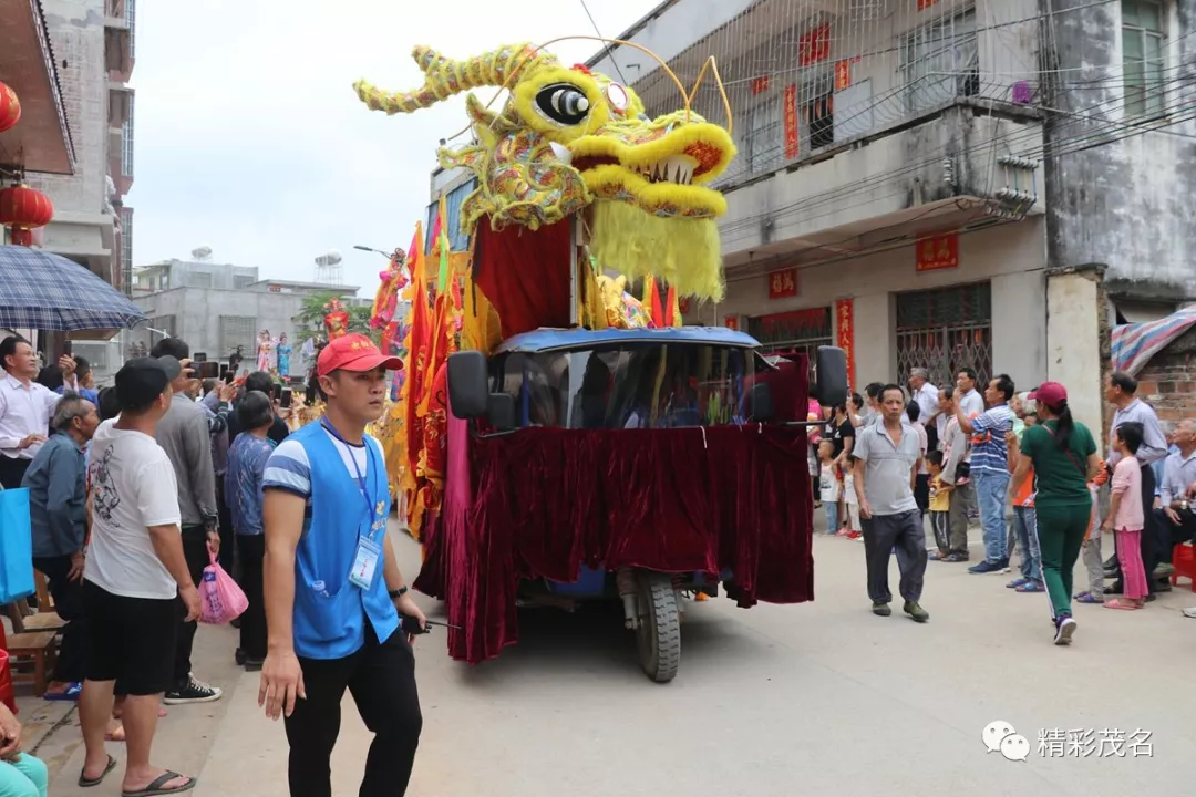
[{"label": "man in grey polo shirt and dark trousers walking on road", "polygon": [[917,430],[905,422],[905,394],[897,385],[880,391],[880,418],[861,428],[852,449],[855,493],[860,499],[864,554],[868,565],[872,613],[889,617],[889,554],[897,550],[905,613],[917,623],[930,619],[919,606],[926,576],[926,529],[914,501],[914,479],[922,448]]}]

